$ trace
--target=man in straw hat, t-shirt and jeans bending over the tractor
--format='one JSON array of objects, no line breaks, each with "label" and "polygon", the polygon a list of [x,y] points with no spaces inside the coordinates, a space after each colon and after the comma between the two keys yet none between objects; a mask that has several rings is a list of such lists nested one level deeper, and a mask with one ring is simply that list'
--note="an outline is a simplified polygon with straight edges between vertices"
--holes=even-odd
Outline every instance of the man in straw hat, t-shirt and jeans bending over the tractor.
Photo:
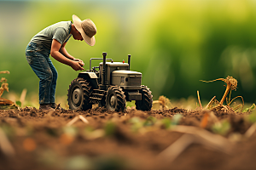
[{"label": "man in straw hat, t-shirt and jeans bending over the tractor", "polygon": [[49,54],[57,61],[71,66],[74,71],[82,71],[84,62],[68,54],[65,46],[71,36],[75,40],[84,40],[90,46],[94,46],[95,34],[96,26],[90,19],[82,21],[73,14],[73,23],[72,21],[58,22],[32,37],[26,47],[26,60],[40,79],[39,110],[61,109],[55,104],[58,74],[49,59]]}]

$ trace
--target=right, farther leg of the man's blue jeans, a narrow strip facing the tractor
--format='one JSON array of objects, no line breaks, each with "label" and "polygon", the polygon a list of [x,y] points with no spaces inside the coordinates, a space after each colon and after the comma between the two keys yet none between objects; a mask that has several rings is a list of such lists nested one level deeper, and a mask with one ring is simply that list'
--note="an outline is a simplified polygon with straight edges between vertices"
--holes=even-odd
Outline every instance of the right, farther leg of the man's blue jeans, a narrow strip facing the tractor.
[{"label": "right, farther leg of the man's blue jeans, a narrow strip facing the tractor", "polygon": [[50,93],[49,93],[49,103],[55,103],[55,88],[57,84],[58,72],[55,69],[55,66],[52,64],[51,60],[47,59],[49,68],[52,72],[52,82],[50,86]]}]

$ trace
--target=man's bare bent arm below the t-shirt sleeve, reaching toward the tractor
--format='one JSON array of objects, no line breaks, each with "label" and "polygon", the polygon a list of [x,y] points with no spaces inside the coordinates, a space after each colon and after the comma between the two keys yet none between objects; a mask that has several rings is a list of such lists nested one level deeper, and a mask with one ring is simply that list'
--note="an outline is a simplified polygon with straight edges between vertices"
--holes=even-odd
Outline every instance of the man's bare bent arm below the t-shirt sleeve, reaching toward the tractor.
[{"label": "man's bare bent arm below the t-shirt sleeve, reaching toward the tractor", "polygon": [[[66,42],[65,42],[66,43]],[[65,44],[64,43],[64,44]],[[63,45],[64,45],[63,44]],[[65,44],[66,45],[66,44]],[[64,45],[64,49],[65,49],[65,45]],[[52,40],[52,43],[51,43],[51,49],[50,49],[50,55],[54,58],[54,59],[56,59],[57,61],[59,61],[59,62],[61,62],[61,63],[63,63],[63,64],[65,64],[65,65],[69,65],[69,66],[71,66],[72,68],[73,68],[73,70],[75,70],[75,71],[82,71],[82,70],[84,70],[84,68],[83,67],[81,67],[81,65],[79,65],[79,61],[75,61],[75,60],[73,60],[74,58],[73,58],[73,56],[72,55],[70,55],[70,54],[68,54],[68,56],[66,56],[67,54],[65,54],[65,52],[64,52],[64,54],[61,54],[61,52],[60,51],[62,51],[63,52],[63,49],[61,49],[61,43],[60,42],[58,42],[57,40],[55,40],[55,39],[53,39]],[[67,52],[67,50],[65,49],[65,51]]]}]

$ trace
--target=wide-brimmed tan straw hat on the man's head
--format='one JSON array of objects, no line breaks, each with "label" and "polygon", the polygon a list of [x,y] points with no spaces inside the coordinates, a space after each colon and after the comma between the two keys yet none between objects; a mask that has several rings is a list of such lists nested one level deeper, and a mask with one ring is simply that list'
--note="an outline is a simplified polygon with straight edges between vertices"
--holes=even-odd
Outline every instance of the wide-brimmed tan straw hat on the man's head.
[{"label": "wide-brimmed tan straw hat on the man's head", "polygon": [[88,43],[90,46],[94,46],[96,35],[96,26],[90,19],[80,20],[79,17],[73,14],[73,24],[76,29],[81,33],[84,38],[84,42]]}]

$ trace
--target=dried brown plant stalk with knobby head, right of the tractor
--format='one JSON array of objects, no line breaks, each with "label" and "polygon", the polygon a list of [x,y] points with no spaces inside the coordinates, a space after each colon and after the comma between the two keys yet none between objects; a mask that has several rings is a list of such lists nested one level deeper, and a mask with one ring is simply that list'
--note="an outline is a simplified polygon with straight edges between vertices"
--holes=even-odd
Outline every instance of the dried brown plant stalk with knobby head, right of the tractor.
[{"label": "dried brown plant stalk with knobby head, right of the tractor", "polygon": [[235,90],[236,91],[236,88],[237,88],[237,80],[233,77],[226,77],[226,78],[218,78],[218,79],[215,79],[215,80],[212,80],[212,81],[203,81],[201,80],[201,82],[215,82],[215,81],[218,81],[218,80],[221,80],[223,82],[226,83],[226,85],[224,85],[226,87],[226,90],[224,92],[224,95],[222,97],[222,99],[220,100],[220,105],[223,105],[224,103],[224,99],[226,99],[227,95],[229,94],[229,92],[231,93],[232,90]]}]

